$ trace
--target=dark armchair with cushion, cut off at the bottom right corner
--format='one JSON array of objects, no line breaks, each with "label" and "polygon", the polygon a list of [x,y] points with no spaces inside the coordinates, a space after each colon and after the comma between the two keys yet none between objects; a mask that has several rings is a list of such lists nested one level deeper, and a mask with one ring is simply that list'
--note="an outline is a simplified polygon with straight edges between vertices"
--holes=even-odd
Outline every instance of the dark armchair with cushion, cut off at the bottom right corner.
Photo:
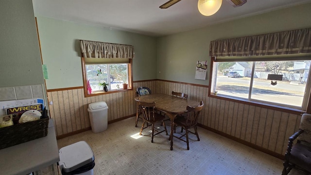
[{"label": "dark armchair with cushion, cut off at the bottom right corner", "polygon": [[299,130],[289,138],[283,165],[282,175],[293,168],[311,174],[311,114],[302,114]]}]

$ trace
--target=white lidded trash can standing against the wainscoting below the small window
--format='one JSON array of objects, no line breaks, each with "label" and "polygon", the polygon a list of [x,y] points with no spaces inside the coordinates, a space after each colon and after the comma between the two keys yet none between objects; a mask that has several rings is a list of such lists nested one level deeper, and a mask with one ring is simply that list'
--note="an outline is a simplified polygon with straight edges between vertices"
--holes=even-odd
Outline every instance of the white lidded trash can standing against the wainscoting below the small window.
[{"label": "white lidded trash can standing against the wainscoting below the small window", "polygon": [[88,115],[91,122],[92,132],[103,132],[108,127],[108,106],[106,102],[88,104]]}]

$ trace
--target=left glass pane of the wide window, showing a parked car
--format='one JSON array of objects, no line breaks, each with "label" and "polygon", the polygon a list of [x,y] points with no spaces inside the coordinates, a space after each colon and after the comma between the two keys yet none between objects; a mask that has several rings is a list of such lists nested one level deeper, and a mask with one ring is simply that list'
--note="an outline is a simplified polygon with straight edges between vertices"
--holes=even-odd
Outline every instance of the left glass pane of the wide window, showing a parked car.
[{"label": "left glass pane of the wide window, showing a parked car", "polygon": [[217,63],[216,91],[218,94],[248,98],[253,62]]}]

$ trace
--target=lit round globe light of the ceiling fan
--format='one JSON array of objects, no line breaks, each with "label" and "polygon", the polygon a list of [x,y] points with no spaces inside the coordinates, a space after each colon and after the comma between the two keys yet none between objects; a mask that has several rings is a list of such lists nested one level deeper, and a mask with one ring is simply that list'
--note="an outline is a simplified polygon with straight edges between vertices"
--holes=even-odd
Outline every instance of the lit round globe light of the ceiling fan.
[{"label": "lit round globe light of the ceiling fan", "polygon": [[198,0],[199,12],[204,16],[214,15],[222,5],[223,0]]}]

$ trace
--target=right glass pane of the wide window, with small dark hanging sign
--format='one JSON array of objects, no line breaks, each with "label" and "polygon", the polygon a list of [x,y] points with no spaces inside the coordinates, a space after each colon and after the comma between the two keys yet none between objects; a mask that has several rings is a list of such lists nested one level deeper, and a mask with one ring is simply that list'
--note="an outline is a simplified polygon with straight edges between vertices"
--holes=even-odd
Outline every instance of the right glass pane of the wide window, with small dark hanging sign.
[{"label": "right glass pane of the wide window, with small dark hanging sign", "polygon": [[[271,103],[302,106],[310,61],[256,62],[251,98]],[[283,75],[282,81],[268,74]]]}]

